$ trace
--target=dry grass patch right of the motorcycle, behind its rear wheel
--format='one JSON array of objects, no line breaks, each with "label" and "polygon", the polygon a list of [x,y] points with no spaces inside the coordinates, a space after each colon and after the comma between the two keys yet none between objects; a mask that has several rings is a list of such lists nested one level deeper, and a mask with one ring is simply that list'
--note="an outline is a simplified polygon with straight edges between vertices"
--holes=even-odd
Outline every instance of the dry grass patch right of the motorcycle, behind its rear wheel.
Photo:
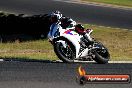
[{"label": "dry grass patch right of the motorcycle, behind its rear wheel", "polygon": [[86,25],[92,28],[92,36],[110,51],[111,60],[132,61],[132,31]]}]

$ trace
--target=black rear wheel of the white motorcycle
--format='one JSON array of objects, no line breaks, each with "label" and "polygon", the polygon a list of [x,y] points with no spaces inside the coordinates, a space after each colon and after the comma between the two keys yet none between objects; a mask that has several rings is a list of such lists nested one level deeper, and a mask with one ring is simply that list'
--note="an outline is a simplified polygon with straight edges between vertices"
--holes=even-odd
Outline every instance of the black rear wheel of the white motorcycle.
[{"label": "black rear wheel of the white motorcycle", "polygon": [[110,59],[110,53],[108,49],[100,42],[95,42],[103,49],[97,49],[94,54],[95,58],[93,58],[98,64],[107,64]]}]

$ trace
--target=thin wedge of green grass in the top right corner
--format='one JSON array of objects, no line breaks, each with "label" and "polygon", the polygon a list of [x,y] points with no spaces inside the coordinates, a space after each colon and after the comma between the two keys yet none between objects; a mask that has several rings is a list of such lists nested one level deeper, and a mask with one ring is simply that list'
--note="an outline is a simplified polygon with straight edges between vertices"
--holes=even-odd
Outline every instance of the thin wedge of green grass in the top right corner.
[{"label": "thin wedge of green grass in the top right corner", "polygon": [[90,1],[90,2],[98,2],[98,3],[106,3],[106,4],[132,7],[132,0],[82,0],[82,1]]}]

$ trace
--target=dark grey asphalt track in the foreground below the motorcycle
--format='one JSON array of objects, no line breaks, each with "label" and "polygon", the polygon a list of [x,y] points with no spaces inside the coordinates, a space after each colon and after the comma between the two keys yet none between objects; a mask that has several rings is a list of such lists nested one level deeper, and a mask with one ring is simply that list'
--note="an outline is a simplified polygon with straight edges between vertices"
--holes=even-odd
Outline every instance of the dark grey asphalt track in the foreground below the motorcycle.
[{"label": "dark grey asphalt track in the foreground below the motorcycle", "polygon": [[[132,64],[0,62],[0,88],[131,88],[132,83],[77,82],[78,67],[87,74],[129,74]],[[132,78],[132,77],[131,77]]]}]

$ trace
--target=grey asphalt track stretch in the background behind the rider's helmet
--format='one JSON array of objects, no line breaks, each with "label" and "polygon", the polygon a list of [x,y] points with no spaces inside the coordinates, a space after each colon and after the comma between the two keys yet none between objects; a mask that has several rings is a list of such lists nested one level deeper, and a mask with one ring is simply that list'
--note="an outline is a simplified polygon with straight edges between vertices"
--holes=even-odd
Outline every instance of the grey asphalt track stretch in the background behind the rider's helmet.
[{"label": "grey asphalt track stretch in the background behind the rider's helmet", "polygon": [[1,0],[0,10],[18,14],[45,14],[60,10],[81,23],[132,29],[132,9],[66,3],[73,0]]}]

